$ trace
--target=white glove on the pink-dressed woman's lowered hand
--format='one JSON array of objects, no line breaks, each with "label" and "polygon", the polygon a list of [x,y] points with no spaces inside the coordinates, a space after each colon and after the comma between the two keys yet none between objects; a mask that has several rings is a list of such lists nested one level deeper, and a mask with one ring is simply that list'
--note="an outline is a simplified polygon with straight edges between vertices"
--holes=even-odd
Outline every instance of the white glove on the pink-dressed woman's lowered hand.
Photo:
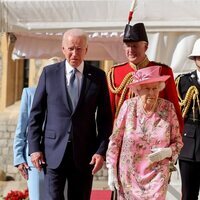
[{"label": "white glove on the pink-dressed woman's lowered hand", "polygon": [[111,191],[115,191],[115,189],[119,190],[116,169],[108,168],[108,186]]}]

